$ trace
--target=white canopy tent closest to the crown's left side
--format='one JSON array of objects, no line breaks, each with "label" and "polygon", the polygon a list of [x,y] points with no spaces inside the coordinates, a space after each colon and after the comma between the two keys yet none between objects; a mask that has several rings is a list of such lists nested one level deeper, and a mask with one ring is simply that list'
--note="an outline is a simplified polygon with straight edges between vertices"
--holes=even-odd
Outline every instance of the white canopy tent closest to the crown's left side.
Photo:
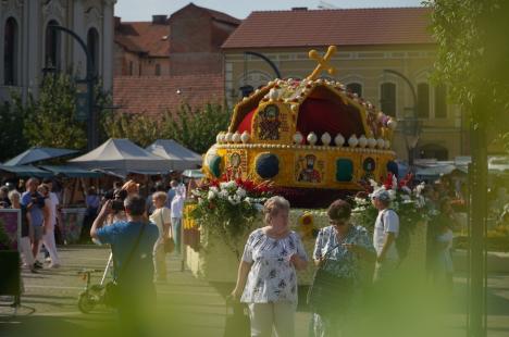
[{"label": "white canopy tent closest to the crown's left side", "polygon": [[173,139],[158,139],[148,146],[147,151],[171,162],[170,168],[176,171],[197,168],[202,163],[200,154],[193,152]]}]

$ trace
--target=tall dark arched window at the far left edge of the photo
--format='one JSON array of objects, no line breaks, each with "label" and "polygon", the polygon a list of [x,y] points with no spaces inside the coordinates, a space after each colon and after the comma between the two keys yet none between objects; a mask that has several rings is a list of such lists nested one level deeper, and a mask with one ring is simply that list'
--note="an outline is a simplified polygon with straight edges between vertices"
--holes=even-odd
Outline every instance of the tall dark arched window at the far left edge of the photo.
[{"label": "tall dark arched window at the far left edge of the photo", "polygon": [[7,86],[16,84],[17,34],[16,21],[14,17],[9,17],[5,22],[3,38],[3,84]]}]

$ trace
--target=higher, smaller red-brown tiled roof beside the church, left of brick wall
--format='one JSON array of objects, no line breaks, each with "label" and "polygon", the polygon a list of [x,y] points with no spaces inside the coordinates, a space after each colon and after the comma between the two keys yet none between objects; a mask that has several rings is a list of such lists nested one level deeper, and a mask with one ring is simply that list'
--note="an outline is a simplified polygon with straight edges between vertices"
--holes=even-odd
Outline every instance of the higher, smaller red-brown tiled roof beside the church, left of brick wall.
[{"label": "higher, smaller red-brown tiled roof beside the church, left of brick wall", "polygon": [[115,28],[115,42],[132,52],[150,57],[170,55],[170,25],[151,22],[123,22]]}]

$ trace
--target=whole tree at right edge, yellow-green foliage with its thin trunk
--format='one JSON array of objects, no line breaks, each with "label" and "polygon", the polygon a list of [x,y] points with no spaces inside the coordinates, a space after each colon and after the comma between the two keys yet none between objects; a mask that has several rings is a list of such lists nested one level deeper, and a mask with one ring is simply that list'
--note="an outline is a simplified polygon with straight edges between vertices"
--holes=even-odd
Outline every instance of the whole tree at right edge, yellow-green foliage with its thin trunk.
[{"label": "whole tree at right edge, yellow-green foliage with its thin trunk", "polygon": [[[470,118],[469,336],[485,336],[484,241],[487,217],[487,146],[509,133],[509,1],[435,0],[436,78]],[[507,147],[507,143],[506,143]]]}]

